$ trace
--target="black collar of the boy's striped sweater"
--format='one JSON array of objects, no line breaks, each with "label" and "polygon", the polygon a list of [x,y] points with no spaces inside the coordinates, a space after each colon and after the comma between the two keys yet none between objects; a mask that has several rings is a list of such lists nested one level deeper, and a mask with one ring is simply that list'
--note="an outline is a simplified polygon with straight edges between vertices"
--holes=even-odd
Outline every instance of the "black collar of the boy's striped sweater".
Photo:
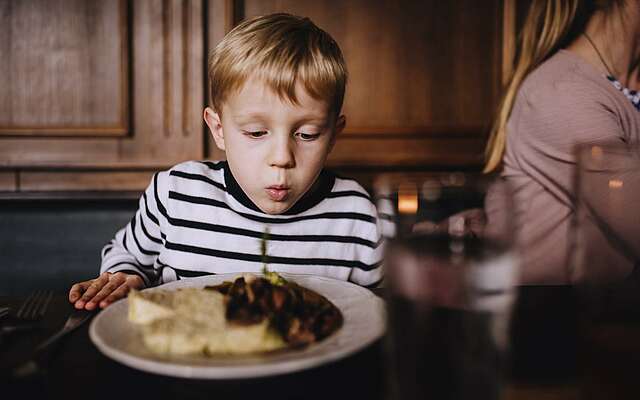
[{"label": "black collar of the boy's striped sweater", "polygon": [[[236,179],[233,177],[229,164],[226,161],[224,161],[223,170],[227,192],[243,206],[263,213],[263,211],[260,210],[260,208],[256,206],[249,196],[247,196],[247,194],[242,190]],[[334,183],[335,175],[323,169],[320,172],[320,175],[318,175],[316,181],[311,185],[311,188],[290,209],[283,212],[282,215],[300,214],[316,206],[324,200],[329,193],[331,193]]]}]

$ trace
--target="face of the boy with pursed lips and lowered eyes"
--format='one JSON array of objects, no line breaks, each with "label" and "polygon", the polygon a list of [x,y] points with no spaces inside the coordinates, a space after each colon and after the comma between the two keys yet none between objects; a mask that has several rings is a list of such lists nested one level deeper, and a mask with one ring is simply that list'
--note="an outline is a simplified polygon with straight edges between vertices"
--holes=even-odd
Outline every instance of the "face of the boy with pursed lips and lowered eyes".
[{"label": "face of the boy with pursed lips and lowered eyes", "polygon": [[344,128],[343,116],[336,118],[327,102],[299,84],[296,97],[297,105],[251,79],[228,97],[221,115],[204,112],[233,176],[267,214],[287,211],[311,188]]}]

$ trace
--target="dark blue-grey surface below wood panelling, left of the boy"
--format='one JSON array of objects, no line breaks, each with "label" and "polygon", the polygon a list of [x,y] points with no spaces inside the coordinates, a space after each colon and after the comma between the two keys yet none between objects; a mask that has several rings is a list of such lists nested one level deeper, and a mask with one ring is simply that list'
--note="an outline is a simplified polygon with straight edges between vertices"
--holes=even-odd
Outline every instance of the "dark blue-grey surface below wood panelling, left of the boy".
[{"label": "dark blue-grey surface below wood panelling, left of the boy", "polygon": [[128,199],[4,200],[0,206],[0,296],[60,292],[95,278],[100,250],[137,205]]}]

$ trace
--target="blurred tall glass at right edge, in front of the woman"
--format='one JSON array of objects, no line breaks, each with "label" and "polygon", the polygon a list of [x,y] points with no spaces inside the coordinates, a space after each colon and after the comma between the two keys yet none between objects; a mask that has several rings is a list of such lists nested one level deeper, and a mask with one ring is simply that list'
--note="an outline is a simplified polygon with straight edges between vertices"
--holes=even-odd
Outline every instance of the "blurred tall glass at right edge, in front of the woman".
[{"label": "blurred tall glass at right edge, in front of the woman", "polygon": [[584,399],[637,399],[640,365],[640,148],[577,148],[572,278],[580,303]]}]

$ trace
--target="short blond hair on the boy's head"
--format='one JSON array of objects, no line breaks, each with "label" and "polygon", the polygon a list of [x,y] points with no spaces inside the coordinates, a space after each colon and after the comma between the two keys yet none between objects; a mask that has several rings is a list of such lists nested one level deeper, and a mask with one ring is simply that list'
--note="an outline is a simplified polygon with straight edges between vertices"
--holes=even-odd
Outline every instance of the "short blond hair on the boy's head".
[{"label": "short blond hair on the boy's head", "polygon": [[282,99],[298,104],[301,83],[316,100],[340,113],[347,68],[338,44],[309,18],[278,13],[244,21],[232,29],[209,58],[209,95],[222,111],[227,97],[253,77]]}]

